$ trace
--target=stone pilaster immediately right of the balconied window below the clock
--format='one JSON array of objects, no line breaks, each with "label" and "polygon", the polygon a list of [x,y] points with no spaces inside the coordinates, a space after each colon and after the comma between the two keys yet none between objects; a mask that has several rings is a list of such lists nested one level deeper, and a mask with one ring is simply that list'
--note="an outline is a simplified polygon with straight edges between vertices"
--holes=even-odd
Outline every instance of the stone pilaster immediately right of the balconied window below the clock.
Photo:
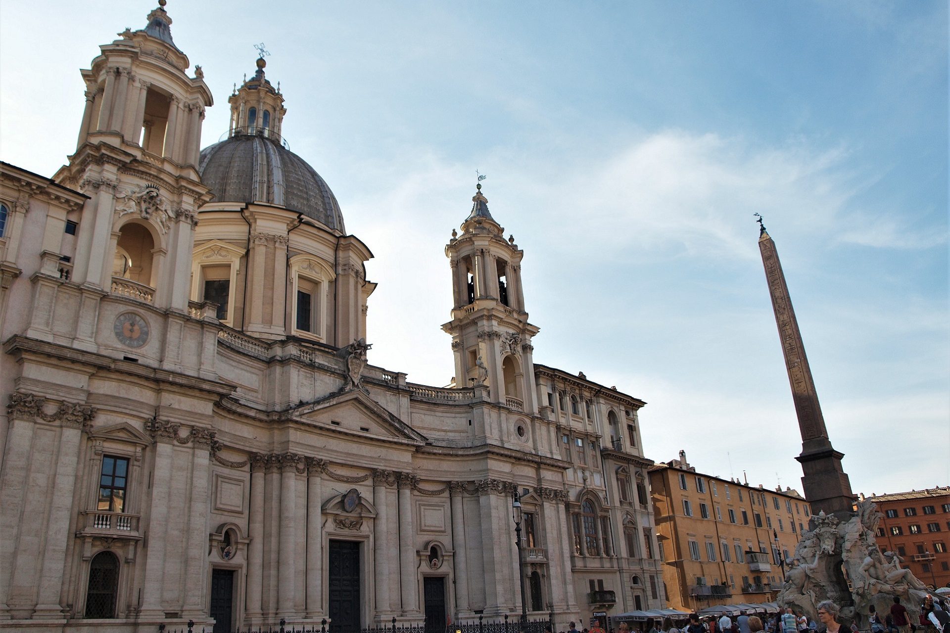
[{"label": "stone pilaster immediately right of the balconied window below the clock", "polygon": [[[165,570],[165,531],[168,528],[169,484],[172,478],[172,442],[178,424],[153,420],[155,471],[152,476],[152,503],[148,515],[148,540],[145,542],[145,582],[142,586],[143,618],[164,617],[161,605],[161,581]],[[203,550],[204,548],[202,548]]]}]

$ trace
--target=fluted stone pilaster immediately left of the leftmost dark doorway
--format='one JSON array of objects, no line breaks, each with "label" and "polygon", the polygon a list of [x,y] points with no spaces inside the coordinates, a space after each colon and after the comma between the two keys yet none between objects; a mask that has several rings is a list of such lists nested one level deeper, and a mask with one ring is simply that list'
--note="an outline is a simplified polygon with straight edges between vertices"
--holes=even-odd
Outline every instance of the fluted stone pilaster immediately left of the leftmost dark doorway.
[{"label": "fluted stone pilaster immediately left of the leftmost dark doorway", "polygon": [[185,563],[183,617],[198,619],[205,610],[205,576],[208,568],[208,476],[209,451],[215,432],[193,428],[194,452],[191,461],[191,503],[188,508],[188,534]]}]

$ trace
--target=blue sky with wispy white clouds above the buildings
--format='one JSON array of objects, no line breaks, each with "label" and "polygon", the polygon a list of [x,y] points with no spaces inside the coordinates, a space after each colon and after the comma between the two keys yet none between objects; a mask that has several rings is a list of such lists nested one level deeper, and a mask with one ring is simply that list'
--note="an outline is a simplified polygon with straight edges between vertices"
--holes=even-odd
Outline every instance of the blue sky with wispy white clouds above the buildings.
[{"label": "blue sky with wispy white clouds above the buildings", "polygon": [[[149,3],[0,0],[0,156],[52,175],[78,68]],[[944,2],[181,2],[217,102],[264,42],[284,135],[376,255],[371,363],[445,384],[475,170],[535,359],[647,400],[645,454],[800,487],[765,216],[855,492],[950,481]],[[91,16],[91,18],[90,18]]]}]

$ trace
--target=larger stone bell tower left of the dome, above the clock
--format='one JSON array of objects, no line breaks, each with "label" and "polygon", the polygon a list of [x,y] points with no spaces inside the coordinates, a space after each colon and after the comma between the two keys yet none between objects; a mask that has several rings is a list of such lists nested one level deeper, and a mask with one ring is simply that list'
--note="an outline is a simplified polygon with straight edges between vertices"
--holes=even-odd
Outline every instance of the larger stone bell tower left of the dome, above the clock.
[{"label": "larger stone bell tower left of the dome, above the clock", "polygon": [[145,28],[125,28],[100,47],[82,71],[76,152],[53,179],[90,197],[72,281],[185,312],[197,210],[211,198],[198,164],[212,97],[201,67],[187,72],[164,5],[159,0]]}]

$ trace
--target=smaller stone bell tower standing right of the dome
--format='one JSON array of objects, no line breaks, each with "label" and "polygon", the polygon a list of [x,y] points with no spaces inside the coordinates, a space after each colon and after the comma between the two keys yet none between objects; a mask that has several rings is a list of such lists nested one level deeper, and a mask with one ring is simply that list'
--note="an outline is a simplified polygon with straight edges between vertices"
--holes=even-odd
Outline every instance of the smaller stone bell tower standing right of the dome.
[{"label": "smaller stone bell tower standing right of the dome", "polygon": [[522,289],[523,251],[514,236],[488,211],[482,185],[472,210],[452,230],[446,256],[452,269],[452,335],[455,385],[485,384],[489,398],[526,413],[537,412],[531,339],[539,328],[528,323]]}]

